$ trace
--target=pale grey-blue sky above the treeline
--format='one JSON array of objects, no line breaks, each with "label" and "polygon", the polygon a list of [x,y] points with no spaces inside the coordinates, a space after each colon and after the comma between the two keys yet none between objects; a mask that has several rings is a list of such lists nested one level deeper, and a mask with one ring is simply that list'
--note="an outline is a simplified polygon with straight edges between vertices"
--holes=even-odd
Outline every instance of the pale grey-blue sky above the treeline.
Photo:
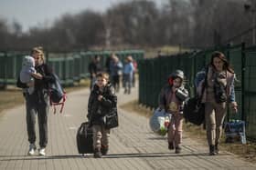
[{"label": "pale grey-blue sky above the treeline", "polygon": [[[8,24],[17,21],[27,31],[35,25],[48,25],[65,13],[76,14],[84,9],[104,12],[125,0],[0,0],[0,19]],[[158,5],[165,0],[154,0]]]}]

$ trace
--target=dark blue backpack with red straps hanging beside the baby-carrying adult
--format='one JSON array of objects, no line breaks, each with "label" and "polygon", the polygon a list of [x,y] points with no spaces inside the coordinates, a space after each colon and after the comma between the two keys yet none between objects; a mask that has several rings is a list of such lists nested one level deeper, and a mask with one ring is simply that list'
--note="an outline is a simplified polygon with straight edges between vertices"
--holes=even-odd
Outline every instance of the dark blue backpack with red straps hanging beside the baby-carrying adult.
[{"label": "dark blue backpack with red straps hanging beside the baby-carrying adult", "polygon": [[49,83],[49,101],[50,105],[54,106],[54,114],[56,114],[55,105],[61,105],[60,113],[63,111],[64,103],[66,101],[67,95],[60,85],[59,77],[52,74],[54,77],[54,82]]}]

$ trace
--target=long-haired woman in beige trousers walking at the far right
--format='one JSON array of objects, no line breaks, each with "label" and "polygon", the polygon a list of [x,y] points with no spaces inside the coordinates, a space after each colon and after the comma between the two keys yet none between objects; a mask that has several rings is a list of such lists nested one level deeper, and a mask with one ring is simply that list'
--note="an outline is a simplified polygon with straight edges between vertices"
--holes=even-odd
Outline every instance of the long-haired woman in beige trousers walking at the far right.
[{"label": "long-haired woman in beige trousers walking at the far right", "polygon": [[[202,96],[202,103],[205,103],[209,155],[219,154],[219,139],[228,103],[235,112],[238,111],[234,77],[225,55],[216,51],[211,55],[206,69],[198,72],[195,79],[197,95]],[[205,90],[202,92],[203,86]]]}]

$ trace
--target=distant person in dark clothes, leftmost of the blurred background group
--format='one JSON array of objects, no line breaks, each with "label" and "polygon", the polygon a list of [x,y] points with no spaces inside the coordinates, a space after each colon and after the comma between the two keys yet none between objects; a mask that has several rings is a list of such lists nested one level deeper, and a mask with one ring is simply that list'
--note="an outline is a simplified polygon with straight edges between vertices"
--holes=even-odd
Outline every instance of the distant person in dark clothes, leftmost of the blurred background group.
[{"label": "distant person in dark clothes, leftmost of the blurred background group", "polygon": [[90,89],[94,85],[96,81],[96,75],[97,73],[102,71],[101,63],[100,63],[101,57],[99,55],[95,55],[91,63],[89,64],[89,73],[90,73],[90,78],[91,78],[91,83],[90,83]]}]

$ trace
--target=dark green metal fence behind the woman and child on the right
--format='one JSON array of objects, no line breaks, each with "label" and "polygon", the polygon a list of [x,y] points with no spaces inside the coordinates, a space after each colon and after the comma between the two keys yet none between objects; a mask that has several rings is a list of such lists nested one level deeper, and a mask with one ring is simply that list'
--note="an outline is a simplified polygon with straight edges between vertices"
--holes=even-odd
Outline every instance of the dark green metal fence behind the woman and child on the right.
[{"label": "dark green metal fence behind the woman and child on the right", "polygon": [[236,73],[235,94],[239,105],[237,114],[228,111],[227,119],[245,120],[247,135],[256,139],[256,46],[224,46],[183,55],[161,56],[139,62],[139,103],[156,108],[161,88],[167,77],[176,69],[186,75],[186,87],[190,96],[195,95],[194,78],[199,70],[210,62],[213,51],[223,52]]}]

